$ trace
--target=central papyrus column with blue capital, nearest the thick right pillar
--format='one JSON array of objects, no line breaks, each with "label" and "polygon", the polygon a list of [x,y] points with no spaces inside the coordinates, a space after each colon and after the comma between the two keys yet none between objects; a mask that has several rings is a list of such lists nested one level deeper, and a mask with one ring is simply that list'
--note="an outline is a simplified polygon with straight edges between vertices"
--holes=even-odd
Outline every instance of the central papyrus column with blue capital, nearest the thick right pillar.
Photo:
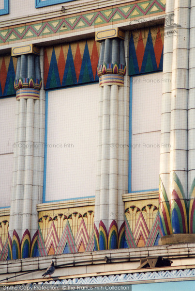
[{"label": "central papyrus column with blue capital, nearest the thick right pillar", "polygon": [[96,40],[101,41],[101,50],[95,245],[110,249],[120,248],[124,242],[122,193],[128,191],[124,33],[119,29],[97,32]]}]

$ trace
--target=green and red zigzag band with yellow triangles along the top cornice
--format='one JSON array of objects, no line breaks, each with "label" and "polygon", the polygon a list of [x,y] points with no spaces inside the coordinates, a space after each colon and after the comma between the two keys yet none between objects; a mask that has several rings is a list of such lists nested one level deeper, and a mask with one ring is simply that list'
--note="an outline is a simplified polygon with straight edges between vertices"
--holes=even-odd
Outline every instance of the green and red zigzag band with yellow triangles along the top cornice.
[{"label": "green and red zigzag band with yellow triangles along the top cornice", "polygon": [[126,19],[136,19],[143,16],[161,15],[165,11],[165,0],[145,0],[136,3],[113,6],[110,9],[96,9],[91,13],[78,13],[76,16],[60,17],[58,20],[43,20],[28,25],[18,25],[11,29],[0,30],[0,44],[30,38],[45,38],[64,32],[77,31],[82,28],[96,27],[102,24],[112,24]]}]

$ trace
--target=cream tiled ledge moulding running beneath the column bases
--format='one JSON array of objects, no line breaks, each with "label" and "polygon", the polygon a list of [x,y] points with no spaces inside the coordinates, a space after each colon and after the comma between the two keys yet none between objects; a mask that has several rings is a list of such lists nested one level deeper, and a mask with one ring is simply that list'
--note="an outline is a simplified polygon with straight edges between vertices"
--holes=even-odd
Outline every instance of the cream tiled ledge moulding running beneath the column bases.
[{"label": "cream tiled ledge moulding running beneath the column bases", "polygon": [[[109,259],[111,263],[105,262],[105,256]],[[137,248],[126,248],[126,249],[110,249],[102,251],[93,251],[93,252],[84,252],[84,253],[73,253],[73,254],[60,254],[52,255],[46,257],[35,257],[35,258],[26,258],[26,259],[16,259],[16,260],[6,260],[0,261],[0,279],[3,274],[6,273],[22,273],[39,269],[44,270],[48,267],[51,262],[51,259],[55,261],[55,264],[61,265],[64,264],[63,268],[77,267],[77,266],[88,266],[86,269],[87,274],[91,274],[90,266],[95,267],[94,271],[102,274],[108,274],[108,272],[113,271],[113,264],[118,265],[122,264],[121,269],[116,268],[112,274],[122,274],[127,272],[143,272],[143,269],[137,270],[136,267],[139,266],[140,259],[146,257],[161,256],[163,258],[168,258],[175,260],[173,266],[164,267],[164,270],[172,269],[185,269],[185,268],[194,268],[195,266],[195,244],[194,243],[181,243],[174,245],[164,245],[164,246],[150,246],[150,247],[137,247]],[[182,263],[182,259],[184,262]],[[188,259],[188,263],[186,261]],[[190,264],[190,260],[192,263]],[[136,262],[136,266],[135,266]],[[66,267],[65,265],[68,264]],[[106,265],[106,270],[101,266]],[[133,268],[131,268],[133,264]],[[98,267],[98,265],[100,267]],[[110,266],[110,270],[109,270]],[[100,269],[99,269],[100,268]],[[161,269],[163,269],[161,267]],[[68,269],[67,269],[68,270]],[[97,270],[97,271],[96,271]],[[120,270],[120,271],[119,271]],[[147,269],[148,271],[149,269]],[[157,271],[158,268],[150,269],[150,271]],[[79,272],[79,270],[77,270]],[[96,273],[96,274],[97,274]],[[70,273],[69,273],[70,274]],[[71,275],[67,274],[69,278]],[[73,273],[72,273],[73,274]],[[74,273],[76,277],[78,274],[82,276],[84,273]],[[94,274],[93,274],[94,275]],[[6,275],[7,276],[7,275]],[[72,276],[73,277],[73,276]],[[39,274],[34,276],[34,278],[39,278]],[[22,280],[22,278],[21,278]],[[46,279],[45,279],[46,280]],[[41,278],[41,281],[43,279]]]}]

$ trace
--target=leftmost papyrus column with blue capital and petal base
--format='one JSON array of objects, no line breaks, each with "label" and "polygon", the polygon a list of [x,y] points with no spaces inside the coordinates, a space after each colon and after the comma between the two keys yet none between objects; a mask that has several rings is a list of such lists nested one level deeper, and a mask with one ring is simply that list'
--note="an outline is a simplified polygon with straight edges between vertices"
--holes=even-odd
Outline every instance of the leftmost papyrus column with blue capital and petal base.
[{"label": "leftmost papyrus column with blue capital and petal base", "polygon": [[[17,57],[15,74],[16,125],[14,175],[10,209],[8,258],[35,256],[37,251],[40,203],[40,89],[42,85],[40,50],[33,46],[12,49]],[[40,148],[41,147],[41,148]],[[42,161],[43,162],[43,161]]]}]

